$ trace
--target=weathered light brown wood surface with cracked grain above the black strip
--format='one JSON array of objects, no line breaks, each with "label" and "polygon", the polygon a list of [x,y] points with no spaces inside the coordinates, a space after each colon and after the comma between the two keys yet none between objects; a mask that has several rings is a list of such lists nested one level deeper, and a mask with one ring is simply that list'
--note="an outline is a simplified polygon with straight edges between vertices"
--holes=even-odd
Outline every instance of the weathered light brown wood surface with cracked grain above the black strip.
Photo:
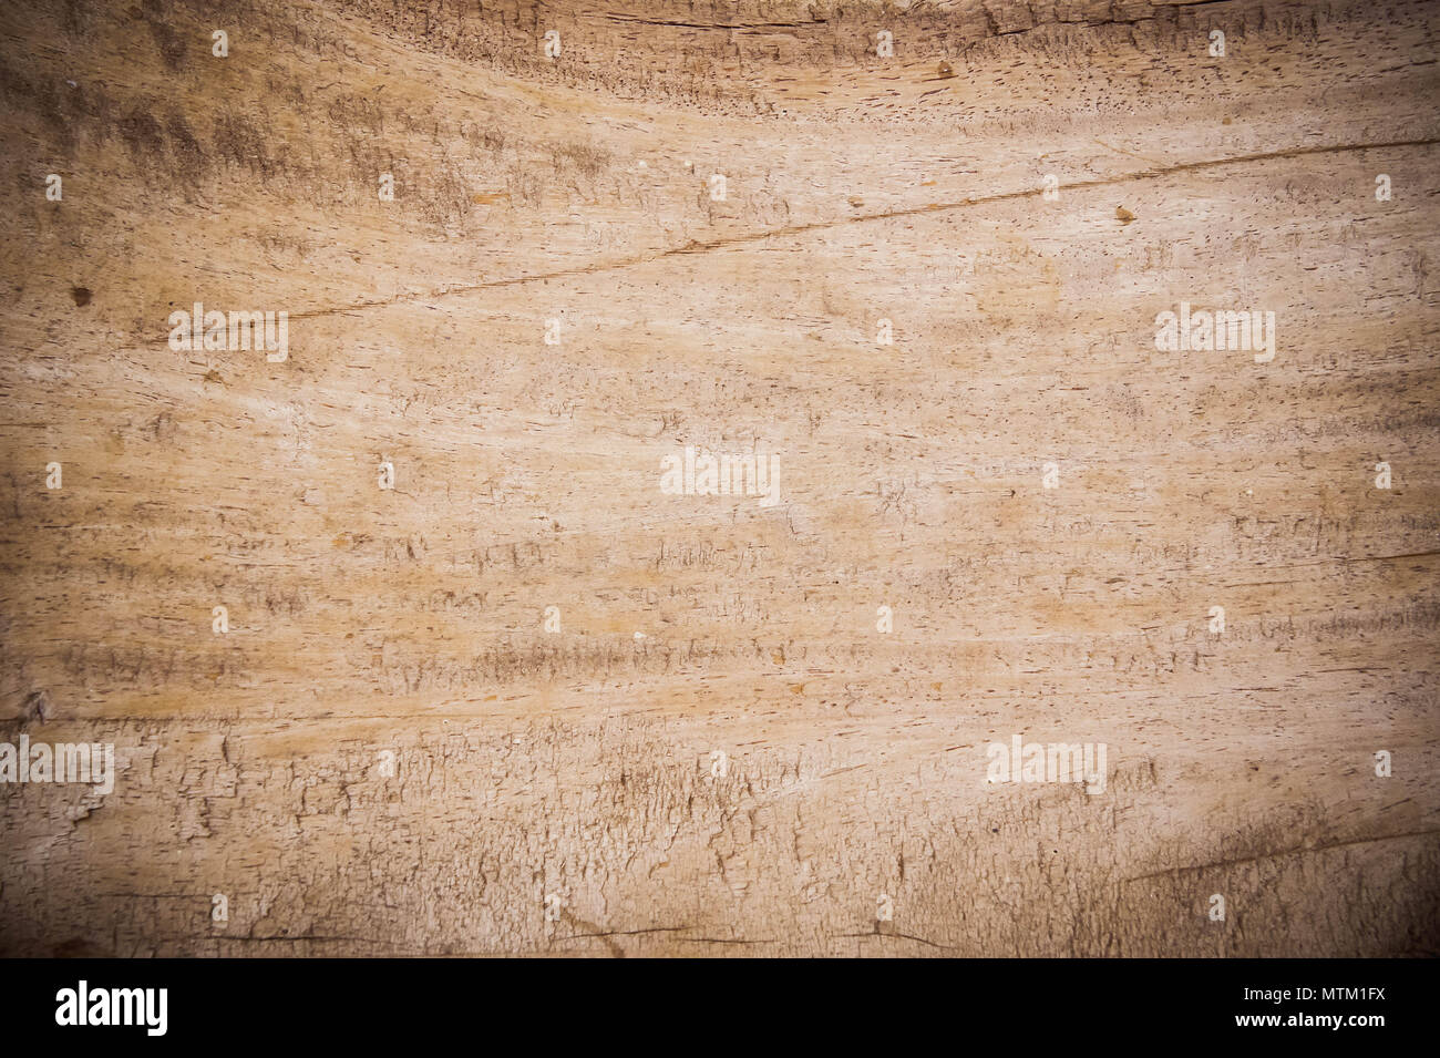
[{"label": "weathered light brown wood surface with cracked grain above the black strip", "polygon": [[1437,35],[3,6],[0,951],[1434,954]]}]

